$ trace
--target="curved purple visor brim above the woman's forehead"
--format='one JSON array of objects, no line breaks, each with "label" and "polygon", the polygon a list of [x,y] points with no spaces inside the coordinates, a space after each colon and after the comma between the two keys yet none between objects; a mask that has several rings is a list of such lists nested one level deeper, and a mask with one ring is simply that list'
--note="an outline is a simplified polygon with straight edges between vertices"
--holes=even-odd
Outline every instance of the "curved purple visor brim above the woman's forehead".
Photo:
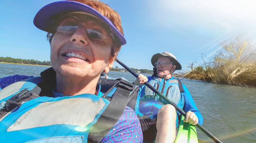
[{"label": "curved purple visor brim above the woman's forehead", "polygon": [[[117,42],[120,45],[126,44],[126,40],[124,36],[116,29],[113,23],[105,16],[100,14],[97,10],[93,9],[88,5],[84,5],[80,2],[74,1],[58,1],[52,2],[44,7],[42,7],[34,17],[34,25],[40,30],[44,30],[46,32],[50,32],[49,28],[52,26],[51,19],[54,15],[60,13],[69,13],[69,12],[87,12],[96,17],[98,17],[103,22],[107,23],[110,29],[114,32],[114,35],[118,38]],[[50,32],[51,33],[51,32]]]}]

